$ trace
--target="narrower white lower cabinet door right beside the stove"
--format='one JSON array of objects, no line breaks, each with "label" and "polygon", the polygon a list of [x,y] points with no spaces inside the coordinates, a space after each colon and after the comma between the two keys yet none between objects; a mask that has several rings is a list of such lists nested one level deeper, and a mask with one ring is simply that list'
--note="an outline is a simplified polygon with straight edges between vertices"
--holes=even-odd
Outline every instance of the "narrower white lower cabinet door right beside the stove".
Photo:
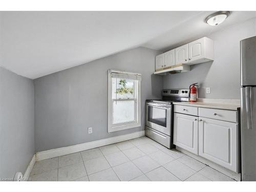
[{"label": "narrower white lower cabinet door right beside the stove", "polygon": [[198,155],[198,117],[174,113],[174,144]]}]

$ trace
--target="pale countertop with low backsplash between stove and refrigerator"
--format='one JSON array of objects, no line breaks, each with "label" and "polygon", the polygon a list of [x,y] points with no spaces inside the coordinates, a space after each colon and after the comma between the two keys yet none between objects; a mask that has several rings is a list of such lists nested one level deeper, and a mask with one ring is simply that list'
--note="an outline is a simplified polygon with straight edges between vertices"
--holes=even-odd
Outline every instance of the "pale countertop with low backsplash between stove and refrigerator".
[{"label": "pale countertop with low backsplash between stove and refrigerator", "polygon": [[198,106],[200,108],[214,108],[237,111],[240,108],[240,100],[231,99],[198,99],[198,102],[173,102],[173,104]]}]

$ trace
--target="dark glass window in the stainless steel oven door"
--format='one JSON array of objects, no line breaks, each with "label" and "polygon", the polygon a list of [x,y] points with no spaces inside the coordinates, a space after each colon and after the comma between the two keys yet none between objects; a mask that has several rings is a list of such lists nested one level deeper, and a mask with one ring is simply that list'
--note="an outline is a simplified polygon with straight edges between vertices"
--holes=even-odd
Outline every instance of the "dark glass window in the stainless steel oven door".
[{"label": "dark glass window in the stainless steel oven door", "polygon": [[166,127],[166,109],[154,108],[154,106],[148,106],[147,120],[156,123],[158,125]]}]

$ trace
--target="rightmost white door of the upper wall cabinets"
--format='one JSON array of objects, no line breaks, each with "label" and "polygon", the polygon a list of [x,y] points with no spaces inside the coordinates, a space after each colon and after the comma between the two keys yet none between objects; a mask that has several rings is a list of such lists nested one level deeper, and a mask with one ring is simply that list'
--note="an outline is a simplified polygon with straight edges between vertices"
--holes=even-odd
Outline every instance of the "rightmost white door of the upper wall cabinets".
[{"label": "rightmost white door of the upper wall cabinets", "polygon": [[195,40],[188,44],[188,61],[204,58],[204,38]]}]

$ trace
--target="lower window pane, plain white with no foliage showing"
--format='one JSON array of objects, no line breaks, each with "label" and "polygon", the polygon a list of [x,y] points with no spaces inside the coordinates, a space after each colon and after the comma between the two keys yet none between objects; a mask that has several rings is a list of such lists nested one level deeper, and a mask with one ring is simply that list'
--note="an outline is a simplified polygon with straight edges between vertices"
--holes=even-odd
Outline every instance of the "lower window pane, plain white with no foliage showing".
[{"label": "lower window pane, plain white with no foliage showing", "polygon": [[134,100],[113,101],[113,124],[135,121]]}]

